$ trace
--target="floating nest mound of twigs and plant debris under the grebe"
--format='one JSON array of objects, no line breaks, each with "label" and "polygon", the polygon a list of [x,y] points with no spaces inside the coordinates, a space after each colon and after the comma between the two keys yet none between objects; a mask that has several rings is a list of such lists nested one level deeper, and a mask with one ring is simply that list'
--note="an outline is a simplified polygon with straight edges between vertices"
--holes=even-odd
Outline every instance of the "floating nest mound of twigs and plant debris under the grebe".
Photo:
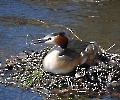
[{"label": "floating nest mound of twigs and plant debris under the grebe", "polygon": [[55,75],[42,70],[42,61],[52,48],[45,47],[30,53],[23,51],[7,59],[5,68],[1,69],[1,82],[6,86],[24,87],[38,92],[43,98],[55,100],[86,100],[113,94],[113,91],[120,94],[120,55],[100,48],[102,52],[97,55],[94,65],[84,63],[76,66],[75,76]]}]

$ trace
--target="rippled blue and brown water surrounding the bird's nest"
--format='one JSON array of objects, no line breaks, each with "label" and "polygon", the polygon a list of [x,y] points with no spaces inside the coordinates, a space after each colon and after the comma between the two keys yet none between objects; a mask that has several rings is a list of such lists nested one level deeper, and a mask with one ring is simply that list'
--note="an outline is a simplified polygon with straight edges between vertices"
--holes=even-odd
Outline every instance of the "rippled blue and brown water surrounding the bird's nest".
[{"label": "rippled blue and brown water surrounding the bird's nest", "polygon": [[[1,0],[0,62],[4,66],[5,59],[27,49],[27,34],[32,35],[27,39],[30,43],[31,39],[51,32],[70,33],[58,25],[69,27],[82,40],[96,41],[105,49],[115,44],[109,52],[120,53],[119,16],[120,0]],[[0,100],[6,96],[10,97],[6,100],[12,100],[12,93],[17,91],[2,86],[0,89]]]}]

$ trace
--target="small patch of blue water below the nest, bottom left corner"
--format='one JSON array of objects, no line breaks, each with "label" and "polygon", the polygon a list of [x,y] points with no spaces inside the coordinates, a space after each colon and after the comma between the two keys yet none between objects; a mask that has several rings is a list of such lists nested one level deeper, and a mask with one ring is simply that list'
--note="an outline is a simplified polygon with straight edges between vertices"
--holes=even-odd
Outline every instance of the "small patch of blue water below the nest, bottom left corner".
[{"label": "small patch of blue water below the nest, bottom left corner", "polygon": [[0,100],[42,100],[38,94],[16,88],[0,86]]}]

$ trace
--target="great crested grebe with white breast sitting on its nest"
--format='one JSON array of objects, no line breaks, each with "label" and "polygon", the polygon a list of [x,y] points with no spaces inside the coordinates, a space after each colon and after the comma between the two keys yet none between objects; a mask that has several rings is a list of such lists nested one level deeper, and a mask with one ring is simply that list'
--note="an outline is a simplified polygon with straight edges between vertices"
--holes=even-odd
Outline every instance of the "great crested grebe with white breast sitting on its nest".
[{"label": "great crested grebe with white breast sitting on its nest", "polygon": [[67,74],[98,52],[96,43],[68,39],[64,32],[51,33],[37,42],[56,45],[43,59],[43,70],[54,74]]}]

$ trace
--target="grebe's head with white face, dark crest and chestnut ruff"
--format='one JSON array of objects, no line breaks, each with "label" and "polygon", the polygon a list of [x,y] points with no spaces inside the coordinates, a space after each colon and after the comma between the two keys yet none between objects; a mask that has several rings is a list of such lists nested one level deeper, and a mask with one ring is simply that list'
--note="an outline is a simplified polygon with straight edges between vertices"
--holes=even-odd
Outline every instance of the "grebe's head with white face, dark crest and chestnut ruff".
[{"label": "grebe's head with white face, dark crest and chestnut ruff", "polygon": [[65,49],[68,45],[68,38],[65,36],[65,32],[51,33],[41,39],[38,39],[38,42],[55,44],[60,46],[62,49]]}]

